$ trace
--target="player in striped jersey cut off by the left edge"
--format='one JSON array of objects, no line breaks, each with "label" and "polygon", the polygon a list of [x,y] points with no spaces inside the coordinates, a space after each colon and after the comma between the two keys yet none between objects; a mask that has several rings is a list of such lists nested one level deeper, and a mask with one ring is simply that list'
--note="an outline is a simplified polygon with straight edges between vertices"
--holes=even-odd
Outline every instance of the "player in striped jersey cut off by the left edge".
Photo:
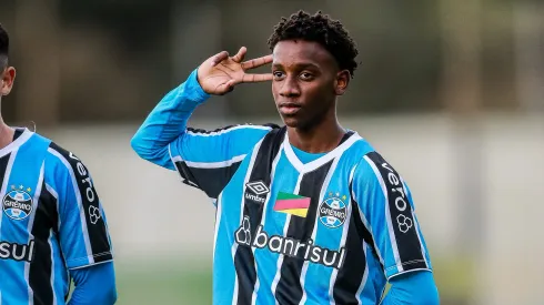
[{"label": "player in striped jersey cut off by the left edge", "polygon": [[[0,24],[0,96],[16,79],[8,53]],[[89,170],[73,153],[7,125],[1,115],[0,213],[0,304],[115,303],[111,241]]]}]

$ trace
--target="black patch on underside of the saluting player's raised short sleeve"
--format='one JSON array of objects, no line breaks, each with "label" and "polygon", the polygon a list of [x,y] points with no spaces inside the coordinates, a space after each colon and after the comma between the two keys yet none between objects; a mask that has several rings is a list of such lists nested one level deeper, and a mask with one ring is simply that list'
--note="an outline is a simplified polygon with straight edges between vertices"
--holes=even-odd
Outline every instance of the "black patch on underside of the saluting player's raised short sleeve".
[{"label": "black patch on underside of the saluting player's raised short sleeve", "polygon": [[218,199],[219,194],[229,184],[234,173],[240,167],[242,160],[224,167],[202,169],[188,166],[184,161],[175,161],[175,169],[183,177],[183,183],[198,187],[211,197]]}]

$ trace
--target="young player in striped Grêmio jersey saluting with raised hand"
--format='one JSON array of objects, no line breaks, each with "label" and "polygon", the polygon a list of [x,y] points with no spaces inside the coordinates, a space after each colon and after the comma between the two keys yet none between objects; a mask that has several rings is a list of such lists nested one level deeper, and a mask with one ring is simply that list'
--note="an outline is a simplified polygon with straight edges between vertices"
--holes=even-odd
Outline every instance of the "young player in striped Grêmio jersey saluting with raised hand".
[{"label": "young player in striped Gr\u00eamio jersey saluting with raised hand", "polygon": [[[431,261],[402,176],[336,119],[357,67],[340,21],[300,11],[269,39],[204,61],[132,139],[216,205],[214,304],[439,304]],[[272,73],[249,69],[272,63]],[[187,126],[210,94],[272,81],[284,126]]]}]

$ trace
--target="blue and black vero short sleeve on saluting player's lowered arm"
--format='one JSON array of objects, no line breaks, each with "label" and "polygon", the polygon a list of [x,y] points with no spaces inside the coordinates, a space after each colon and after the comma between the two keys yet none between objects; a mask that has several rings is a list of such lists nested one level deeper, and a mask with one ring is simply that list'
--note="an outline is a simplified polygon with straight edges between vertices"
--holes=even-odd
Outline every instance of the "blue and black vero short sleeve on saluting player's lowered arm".
[{"label": "blue and black vero short sleeve on saluting player's lowered arm", "polygon": [[352,196],[387,279],[411,271],[431,271],[410,190],[379,153],[367,153],[359,163]]}]

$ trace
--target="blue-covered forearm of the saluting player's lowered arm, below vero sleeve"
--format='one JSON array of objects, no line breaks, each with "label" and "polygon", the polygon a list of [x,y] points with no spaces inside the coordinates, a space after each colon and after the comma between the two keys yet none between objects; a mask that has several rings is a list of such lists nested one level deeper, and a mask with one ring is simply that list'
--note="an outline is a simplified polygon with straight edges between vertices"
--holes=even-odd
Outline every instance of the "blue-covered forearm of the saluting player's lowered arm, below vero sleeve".
[{"label": "blue-covered forearm of the saluting player's lowered arm, below vero sleeve", "polygon": [[433,274],[414,271],[393,277],[382,305],[439,305],[439,291]]}]

